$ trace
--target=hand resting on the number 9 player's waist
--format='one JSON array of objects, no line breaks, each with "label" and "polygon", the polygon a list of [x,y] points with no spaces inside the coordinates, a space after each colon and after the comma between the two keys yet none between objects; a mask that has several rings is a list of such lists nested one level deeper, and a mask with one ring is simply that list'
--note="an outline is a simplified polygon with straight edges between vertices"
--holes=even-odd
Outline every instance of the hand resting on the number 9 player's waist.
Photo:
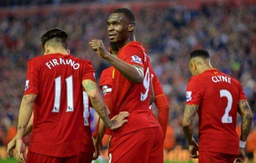
[{"label": "hand resting on the number 9 player's waist", "polygon": [[130,116],[130,113],[128,112],[119,112],[118,115],[114,116],[111,121],[111,127],[110,129],[118,129],[121,127],[124,123],[128,122],[127,117]]}]

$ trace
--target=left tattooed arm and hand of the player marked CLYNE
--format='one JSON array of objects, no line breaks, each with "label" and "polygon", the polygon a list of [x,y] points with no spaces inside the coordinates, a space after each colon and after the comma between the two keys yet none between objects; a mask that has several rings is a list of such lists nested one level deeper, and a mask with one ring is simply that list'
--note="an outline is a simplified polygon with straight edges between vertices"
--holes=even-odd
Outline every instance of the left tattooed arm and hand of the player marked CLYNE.
[{"label": "left tattooed arm and hand of the player marked CLYNE", "polygon": [[192,158],[198,158],[198,144],[193,138],[193,119],[198,110],[198,105],[186,105],[183,115],[182,128],[186,140],[189,143],[189,153]]}]

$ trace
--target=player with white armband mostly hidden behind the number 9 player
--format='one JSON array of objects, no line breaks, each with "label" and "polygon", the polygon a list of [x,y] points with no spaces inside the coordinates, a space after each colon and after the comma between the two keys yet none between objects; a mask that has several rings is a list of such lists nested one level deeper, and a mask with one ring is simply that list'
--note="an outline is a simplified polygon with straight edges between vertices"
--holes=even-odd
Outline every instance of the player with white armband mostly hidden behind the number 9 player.
[{"label": "player with white armband mostly hidden behind the number 9 player", "polygon": [[[118,54],[117,45],[112,42],[110,43],[110,45],[111,45],[110,53],[113,54],[114,56],[117,56]],[[108,106],[110,111],[112,110],[112,107],[113,107],[112,100],[111,100],[112,72],[113,72],[113,66],[106,68],[105,70],[102,71],[102,74],[99,79],[99,87],[103,91],[103,98],[104,98],[105,104]],[[158,109],[158,121],[161,125],[163,135],[165,137],[166,129],[168,125],[168,119],[169,119],[169,104],[166,99],[166,96],[163,93],[162,86],[159,80],[157,79],[157,75],[153,70],[151,71],[151,79],[152,79],[154,96],[155,96],[154,103],[156,104]],[[151,106],[149,106],[149,109],[151,109]],[[105,132],[105,125],[103,124],[102,121],[99,124],[99,121],[98,121],[97,127],[93,132],[93,138],[96,139],[98,135],[98,138],[95,140],[95,143],[97,143],[96,145],[97,150],[99,150],[99,146],[101,144],[101,140],[104,134],[111,135],[111,131],[107,129]],[[111,140],[111,137],[110,137],[110,140]],[[97,151],[96,154],[98,153],[99,151]]]}]

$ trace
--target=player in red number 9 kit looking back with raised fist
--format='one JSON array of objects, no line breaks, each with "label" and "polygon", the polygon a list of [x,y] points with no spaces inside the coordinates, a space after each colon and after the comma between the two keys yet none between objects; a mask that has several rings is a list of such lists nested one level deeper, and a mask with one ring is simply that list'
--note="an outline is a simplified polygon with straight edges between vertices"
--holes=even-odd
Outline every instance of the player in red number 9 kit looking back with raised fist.
[{"label": "player in red number 9 kit looking back with raised fist", "polygon": [[149,107],[151,63],[140,42],[135,41],[135,18],[131,10],[119,8],[108,18],[108,35],[119,48],[109,53],[102,40],[90,45],[113,65],[111,117],[128,111],[128,123],[111,131],[109,163],[163,163],[163,132]]}]

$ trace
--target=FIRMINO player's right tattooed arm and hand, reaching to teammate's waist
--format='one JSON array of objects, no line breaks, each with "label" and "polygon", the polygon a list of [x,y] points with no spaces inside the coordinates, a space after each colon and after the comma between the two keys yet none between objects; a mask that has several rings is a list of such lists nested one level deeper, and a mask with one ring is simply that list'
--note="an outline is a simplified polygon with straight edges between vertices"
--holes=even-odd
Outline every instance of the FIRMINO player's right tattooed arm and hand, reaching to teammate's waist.
[{"label": "FIRMINO player's right tattooed arm and hand, reaching to teammate's waist", "polygon": [[129,116],[128,112],[120,112],[118,116],[116,115],[111,120],[109,119],[110,112],[103,101],[96,82],[86,79],[82,81],[82,85],[90,98],[93,108],[108,128],[117,129],[127,122],[124,118]]}]

